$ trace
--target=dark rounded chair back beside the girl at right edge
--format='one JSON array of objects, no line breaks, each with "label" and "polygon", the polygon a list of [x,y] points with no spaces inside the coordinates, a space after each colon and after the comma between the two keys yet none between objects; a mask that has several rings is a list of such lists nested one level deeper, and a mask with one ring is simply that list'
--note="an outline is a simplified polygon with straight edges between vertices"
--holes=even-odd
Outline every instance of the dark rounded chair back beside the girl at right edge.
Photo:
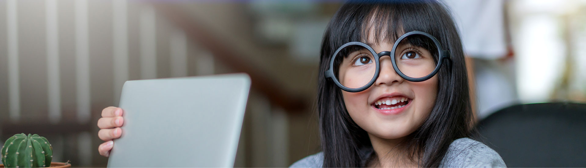
[{"label": "dark rounded chair back beside the girl at right edge", "polygon": [[507,167],[586,167],[586,104],[513,105],[476,128]]}]

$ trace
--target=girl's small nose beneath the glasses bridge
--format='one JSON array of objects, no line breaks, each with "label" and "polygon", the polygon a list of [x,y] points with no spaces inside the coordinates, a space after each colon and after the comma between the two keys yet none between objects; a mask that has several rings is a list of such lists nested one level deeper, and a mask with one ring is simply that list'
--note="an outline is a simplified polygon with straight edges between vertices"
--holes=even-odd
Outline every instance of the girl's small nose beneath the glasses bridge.
[{"label": "girl's small nose beneath the glasses bridge", "polygon": [[405,79],[397,74],[393,68],[391,57],[380,57],[379,78],[374,81],[375,85],[391,85],[393,83],[403,83]]}]

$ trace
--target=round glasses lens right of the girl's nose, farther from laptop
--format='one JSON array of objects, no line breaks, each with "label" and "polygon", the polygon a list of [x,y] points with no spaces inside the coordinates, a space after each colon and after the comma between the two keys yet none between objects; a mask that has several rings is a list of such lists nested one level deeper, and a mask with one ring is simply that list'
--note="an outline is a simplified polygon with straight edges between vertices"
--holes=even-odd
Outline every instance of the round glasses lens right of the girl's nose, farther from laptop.
[{"label": "round glasses lens right of the girl's nose, farther from laptop", "polygon": [[423,35],[411,35],[399,42],[395,61],[401,73],[412,78],[425,77],[437,66],[437,46]]}]

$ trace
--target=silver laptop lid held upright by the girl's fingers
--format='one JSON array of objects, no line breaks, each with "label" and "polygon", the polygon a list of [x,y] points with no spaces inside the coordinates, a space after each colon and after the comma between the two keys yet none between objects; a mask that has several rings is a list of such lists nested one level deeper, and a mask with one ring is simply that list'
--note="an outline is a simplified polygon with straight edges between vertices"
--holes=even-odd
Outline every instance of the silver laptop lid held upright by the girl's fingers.
[{"label": "silver laptop lid held upright by the girl's fingers", "polygon": [[108,167],[233,167],[247,74],[127,81]]}]

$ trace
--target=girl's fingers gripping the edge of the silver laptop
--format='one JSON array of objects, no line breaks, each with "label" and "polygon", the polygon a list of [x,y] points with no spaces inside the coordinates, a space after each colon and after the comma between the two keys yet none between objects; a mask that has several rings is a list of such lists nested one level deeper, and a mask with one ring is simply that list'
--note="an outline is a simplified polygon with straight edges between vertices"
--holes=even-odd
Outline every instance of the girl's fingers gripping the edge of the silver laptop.
[{"label": "girl's fingers gripping the edge of the silver laptop", "polygon": [[117,107],[107,107],[102,110],[102,118],[98,119],[98,127],[100,128],[98,137],[106,141],[98,146],[98,151],[102,156],[110,156],[110,150],[114,146],[112,140],[120,138],[122,135],[122,129],[118,128],[124,124],[122,113],[122,109]]}]

